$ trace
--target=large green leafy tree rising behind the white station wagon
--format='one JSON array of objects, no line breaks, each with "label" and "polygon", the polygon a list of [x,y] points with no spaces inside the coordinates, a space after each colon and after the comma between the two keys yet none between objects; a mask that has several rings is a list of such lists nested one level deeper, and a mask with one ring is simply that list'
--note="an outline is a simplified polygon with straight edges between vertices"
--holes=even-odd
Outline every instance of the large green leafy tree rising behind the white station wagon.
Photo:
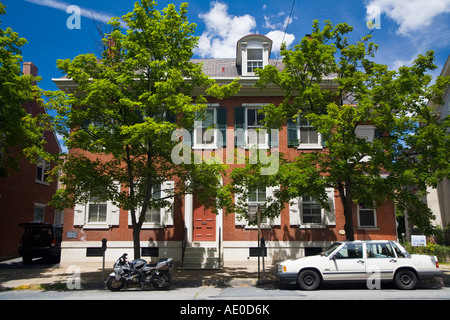
[{"label": "large green leafy tree rising behind the white station wagon", "polygon": [[[395,201],[410,210],[412,223],[427,227],[432,214],[420,196],[449,176],[450,158],[449,119],[437,122],[427,102],[441,103],[450,79],[438,77],[432,85],[427,71],[436,68],[433,51],[411,67],[389,70],[371,60],[378,48],[371,35],[350,43],[346,23],[325,21],[321,29],[314,21],[312,28],[292,50],[282,48],[283,70],[269,65],[258,71],[258,86],[285,93],[279,106],[264,108],[266,126],[281,128],[301,117],[325,141],[322,151],[286,160],[280,199],[308,195],[327,207],[325,188],[335,188],[350,240],[355,204]],[[374,126],[373,138],[357,135],[364,124]]]}]

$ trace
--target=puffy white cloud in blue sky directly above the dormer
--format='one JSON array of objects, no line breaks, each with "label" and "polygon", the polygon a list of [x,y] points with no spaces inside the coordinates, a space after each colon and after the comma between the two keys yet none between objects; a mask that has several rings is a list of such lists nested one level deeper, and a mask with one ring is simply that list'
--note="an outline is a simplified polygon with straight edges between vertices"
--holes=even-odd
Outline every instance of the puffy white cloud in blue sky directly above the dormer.
[{"label": "puffy white cloud in blue sky directly above the dormer", "polygon": [[[284,41],[289,46],[294,42],[294,35],[286,34],[284,31],[287,24],[286,14],[280,13],[276,17],[282,17],[282,22],[271,22],[272,18],[267,18],[266,28],[272,29],[267,37],[272,39],[272,52],[280,50],[281,42]],[[199,15],[205,23],[205,31],[200,36],[196,54],[203,58],[234,58],[236,57],[236,43],[242,37],[255,33],[256,20],[251,15],[233,16],[228,14],[228,6],[221,2],[211,2],[210,10]]]}]

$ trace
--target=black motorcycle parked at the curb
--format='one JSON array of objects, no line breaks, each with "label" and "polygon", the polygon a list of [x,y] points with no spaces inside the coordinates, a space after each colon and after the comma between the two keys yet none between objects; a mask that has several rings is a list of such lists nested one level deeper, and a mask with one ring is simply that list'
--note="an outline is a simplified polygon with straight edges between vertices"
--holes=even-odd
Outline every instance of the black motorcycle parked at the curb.
[{"label": "black motorcycle parked at the curb", "polygon": [[124,253],[114,263],[112,272],[106,286],[111,291],[119,291],[125,285],[127,287],[141,287],[152,284],[157,290],[167,290],[172,284],[169,270],[173,267],[173,258],[160,259],[156,264],[147,264],[143,259],[127,260]]}]

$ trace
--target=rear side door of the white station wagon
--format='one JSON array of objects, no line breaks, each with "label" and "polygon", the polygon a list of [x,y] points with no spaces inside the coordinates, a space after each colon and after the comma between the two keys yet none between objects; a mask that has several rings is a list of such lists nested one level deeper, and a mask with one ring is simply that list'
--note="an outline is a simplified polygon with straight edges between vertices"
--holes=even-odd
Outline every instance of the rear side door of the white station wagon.
[{"label": "rear side door of the white station wagon", "polygon": [[366,244],[366,250],[367,275],[372,277],[379,276],[381,280],[392,279],[398,260],[391,244],[388,242],[371,242]]}]

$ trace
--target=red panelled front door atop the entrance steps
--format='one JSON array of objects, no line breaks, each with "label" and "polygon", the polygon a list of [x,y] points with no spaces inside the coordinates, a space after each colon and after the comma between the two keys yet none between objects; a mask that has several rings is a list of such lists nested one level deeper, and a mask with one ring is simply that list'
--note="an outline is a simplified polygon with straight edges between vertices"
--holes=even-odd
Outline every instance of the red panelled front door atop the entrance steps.
[{"label": "red panelled front door atop the entrance steps", "polygon": [[216,241],[216,214],[194,200],[194,241]]}]

